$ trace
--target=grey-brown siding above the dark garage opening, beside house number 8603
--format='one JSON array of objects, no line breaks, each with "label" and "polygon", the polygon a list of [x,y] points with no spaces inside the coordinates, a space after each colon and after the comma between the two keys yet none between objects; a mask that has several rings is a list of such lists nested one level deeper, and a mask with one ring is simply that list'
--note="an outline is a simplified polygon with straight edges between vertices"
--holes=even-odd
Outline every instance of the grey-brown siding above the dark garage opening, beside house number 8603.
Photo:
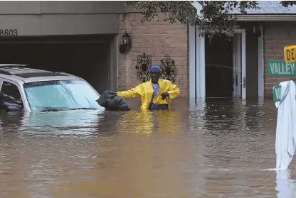
[{"label": "grey-brown siding above the dark garage opening, beside house number 8603", "polygon": [[117,34],[121,1],[0,1],[0,29],[18,36]]}]

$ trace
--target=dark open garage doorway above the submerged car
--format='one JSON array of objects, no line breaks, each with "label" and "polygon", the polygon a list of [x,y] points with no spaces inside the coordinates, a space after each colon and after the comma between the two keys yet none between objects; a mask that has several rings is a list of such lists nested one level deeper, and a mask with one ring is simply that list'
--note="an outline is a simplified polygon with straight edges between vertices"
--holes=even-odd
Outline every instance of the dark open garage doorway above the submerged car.
[{"label": "dark open garage doorway above the submerged car", "polygon": [[0,53],[0,63],[68,72],[87,80],[99,93],[110,89],[108,36],[4,38]]}]

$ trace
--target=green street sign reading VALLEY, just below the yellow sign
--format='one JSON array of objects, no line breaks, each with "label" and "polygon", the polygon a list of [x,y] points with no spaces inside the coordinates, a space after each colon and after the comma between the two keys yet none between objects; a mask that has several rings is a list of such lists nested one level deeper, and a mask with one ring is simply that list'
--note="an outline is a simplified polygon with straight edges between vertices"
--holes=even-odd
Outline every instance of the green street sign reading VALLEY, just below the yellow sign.
[{"label": "green street sign reading VALLEY, just below the yellow sign", "polygon": [[286,63],[284,60],[268,60],[269,77],[296,77],[296,62]]}]

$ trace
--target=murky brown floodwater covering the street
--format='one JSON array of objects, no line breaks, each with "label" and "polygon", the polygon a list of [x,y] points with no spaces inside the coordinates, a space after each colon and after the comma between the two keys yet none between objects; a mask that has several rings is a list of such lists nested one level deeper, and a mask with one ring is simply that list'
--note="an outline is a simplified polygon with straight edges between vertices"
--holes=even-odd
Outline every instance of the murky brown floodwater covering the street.
[{"label": "murky brown floodwater covering the street", "polygon": [[[0,197],[289,197],[275,172],[277,111],[174,101],[170,111],[0,116]],[[292,179],[291,179],[291,178]],[[294,195],[296,196],[296,195]]]}]

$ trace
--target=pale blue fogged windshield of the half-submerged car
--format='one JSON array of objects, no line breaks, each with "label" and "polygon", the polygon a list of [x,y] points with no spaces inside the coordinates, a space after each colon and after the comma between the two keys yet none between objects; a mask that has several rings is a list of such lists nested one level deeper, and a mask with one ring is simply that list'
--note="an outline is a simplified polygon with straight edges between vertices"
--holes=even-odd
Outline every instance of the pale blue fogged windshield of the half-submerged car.
[{"label": "pale blue fogged windshield of the half-submerged car", "polygon": [[100,109],[100,95],[80,79],[29,82],[23,84],[32,111]]}]

